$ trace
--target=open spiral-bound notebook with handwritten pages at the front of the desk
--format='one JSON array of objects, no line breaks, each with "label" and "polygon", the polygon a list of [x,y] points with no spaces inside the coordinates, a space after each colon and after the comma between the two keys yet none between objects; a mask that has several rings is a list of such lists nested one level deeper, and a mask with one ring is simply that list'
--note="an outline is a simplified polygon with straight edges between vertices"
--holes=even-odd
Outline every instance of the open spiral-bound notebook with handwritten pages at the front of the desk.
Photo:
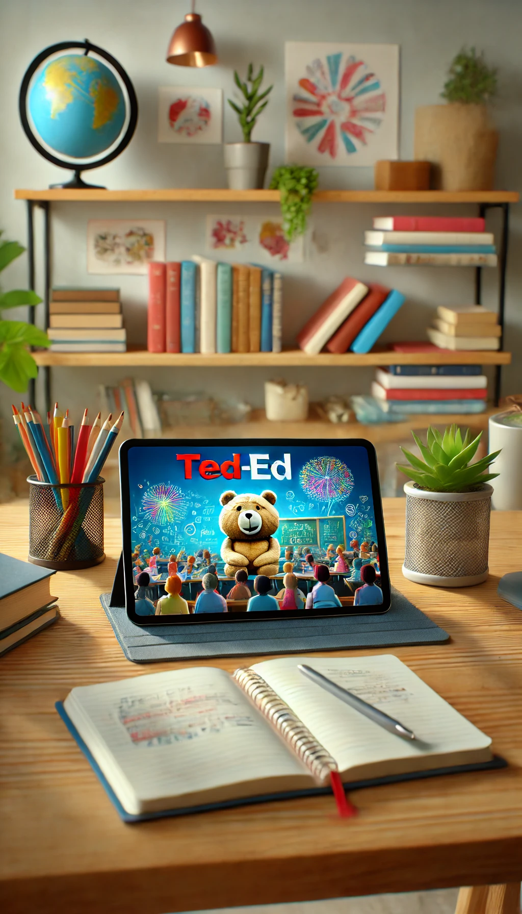
[{"label": "open spiral-bound notebook with handwritten pages at the front of the desk", "polygon": [[[416,734],[389,733],[310,682],[307,663]],[[495,765],[491,739],[392,654],[283,657],[72,689],[59,712],[123,818]],[[489,764],[488,764],[489,763]],[[495,766],[496,767],[496,766]]]}]

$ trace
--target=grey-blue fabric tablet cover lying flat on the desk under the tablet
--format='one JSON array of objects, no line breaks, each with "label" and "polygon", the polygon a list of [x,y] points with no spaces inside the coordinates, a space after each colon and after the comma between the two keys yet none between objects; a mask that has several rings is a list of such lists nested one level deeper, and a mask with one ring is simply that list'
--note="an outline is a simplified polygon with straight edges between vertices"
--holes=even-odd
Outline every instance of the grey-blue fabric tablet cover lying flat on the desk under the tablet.
[{"label": "grey-blue fabric tablet cover lying flat on the desk under the tablet", "polygon": [[127,660],[152,664],[165,660],[252,654],[302,654],[341,648],[434,644],[450,636],[399,590],[391,588],[391,608],[382,615],[337,616],[334,619],[260,619],[252,622],[206,622],[195,625],[134,625],[124,606],[111,606],[101,594],[114,634]]}]

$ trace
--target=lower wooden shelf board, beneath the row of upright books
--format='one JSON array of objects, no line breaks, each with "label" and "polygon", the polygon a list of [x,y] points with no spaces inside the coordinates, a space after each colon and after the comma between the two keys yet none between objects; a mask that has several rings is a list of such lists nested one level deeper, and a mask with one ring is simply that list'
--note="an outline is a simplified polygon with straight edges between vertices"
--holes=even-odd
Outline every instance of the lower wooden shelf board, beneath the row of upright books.
[{"label": "lower wooden shelf board, beneath the row of upright books", "polygon": [[307,356],[301,349],[283,352],[227,353],[151,353],[129,346],[127,352],[48,352],[33,353],[39,366],[64,367],[368,367],[378,365],[509,365],[509,352],[448,352],[398,353],[382,349],[364,355],[345,353],[342,356],[321,352]]}]

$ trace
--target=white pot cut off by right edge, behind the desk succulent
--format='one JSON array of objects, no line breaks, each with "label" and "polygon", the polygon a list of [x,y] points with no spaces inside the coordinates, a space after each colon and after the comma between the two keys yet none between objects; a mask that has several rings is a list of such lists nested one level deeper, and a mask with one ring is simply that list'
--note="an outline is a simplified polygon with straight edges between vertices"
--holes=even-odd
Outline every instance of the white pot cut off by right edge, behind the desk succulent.
[{"label": "white pot cut off by right edge, behind the desk succulent", "polygon": [[522,424],[507,424],[517,416],[522,414],[499,412],[489,420],[488,451],[502,449],[491,468],[499,473],[492,482],[495,511],[522,511]]}]

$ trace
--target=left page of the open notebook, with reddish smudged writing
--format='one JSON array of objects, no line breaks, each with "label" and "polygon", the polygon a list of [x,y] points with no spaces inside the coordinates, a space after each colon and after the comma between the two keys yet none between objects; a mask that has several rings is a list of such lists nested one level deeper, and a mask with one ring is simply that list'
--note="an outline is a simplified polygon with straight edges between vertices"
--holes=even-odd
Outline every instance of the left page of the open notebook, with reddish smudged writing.
[{"label": "left page of the open notebook, with reddish smudged writing", "polygon": [[196,667],[80,686],[65,709],[130,813],[169,808],[165,797],[224,784],[314,784],[224,670]]}]

